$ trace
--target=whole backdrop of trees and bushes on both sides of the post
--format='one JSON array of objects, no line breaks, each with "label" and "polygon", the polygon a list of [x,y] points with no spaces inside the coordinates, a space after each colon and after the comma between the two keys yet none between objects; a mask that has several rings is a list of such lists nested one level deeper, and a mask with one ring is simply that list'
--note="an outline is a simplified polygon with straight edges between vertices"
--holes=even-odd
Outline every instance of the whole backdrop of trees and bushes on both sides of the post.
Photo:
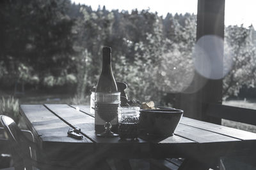
[{"label": "whole backdrop of trees and bushes on both sides of the post", "polygon": [[[0,91],[71,90],[83,99],[96,85],[102,47],[112,48],[116,81],[141,101],[169,104],[170,94],[189,87],[195,73],[196,15],[148,10],[106,10],[69,0],[3,0],[0,3]],[[223,99],[255,90],[253,25],[226,25]]]}]

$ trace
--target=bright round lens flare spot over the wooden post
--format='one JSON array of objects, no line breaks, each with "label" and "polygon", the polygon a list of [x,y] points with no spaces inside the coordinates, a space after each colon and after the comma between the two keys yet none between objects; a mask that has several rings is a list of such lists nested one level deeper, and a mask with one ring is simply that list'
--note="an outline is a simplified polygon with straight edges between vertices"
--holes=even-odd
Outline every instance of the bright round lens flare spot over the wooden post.
[{"label": "bright round lens flare spot over the wooden post", "polygon": [[232,57],[223,55],[223,39],[207,35],[196,42],[193,61],[196,71],[205,78],[218,80],[223,78],[232,67]]}]

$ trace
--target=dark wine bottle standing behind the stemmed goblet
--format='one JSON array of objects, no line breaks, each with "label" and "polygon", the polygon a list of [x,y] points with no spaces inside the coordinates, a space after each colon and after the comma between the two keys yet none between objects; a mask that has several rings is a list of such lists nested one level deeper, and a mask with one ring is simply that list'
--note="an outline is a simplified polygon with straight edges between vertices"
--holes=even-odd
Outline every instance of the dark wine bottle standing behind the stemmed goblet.
[{"label": "dark wine bottle standing behind the stemmed goblet", "polygon": [[[111,67],[111,48],[110,47],[104,47],[102,49],[102,71],[100,74],[99,81],[97,83],[97,87],[95,90],[96,93],[106,93],[111,94],[118,92],[116,81],[113,76],[112,67]],[[113,105],[113,104],[112,104]],[[111,108],[116,108],[116,106],[111,106],[111,104],[102,104],[100,108],[100,105],[98,103],[98,111],[104,110],[105,113],[102,114],[108,114],[108,111],[111,111]],[[116,108],[117,111],[117,108]],[[106,124],[106,121],[102,120],[100,118],[99,113],[97,113],[97,110],[95,110],[95,132],[96,134],[100,134],[104,132],[104,125]],[[111,131],[118,132],[118,117],[116,116],[111,121]]]}]

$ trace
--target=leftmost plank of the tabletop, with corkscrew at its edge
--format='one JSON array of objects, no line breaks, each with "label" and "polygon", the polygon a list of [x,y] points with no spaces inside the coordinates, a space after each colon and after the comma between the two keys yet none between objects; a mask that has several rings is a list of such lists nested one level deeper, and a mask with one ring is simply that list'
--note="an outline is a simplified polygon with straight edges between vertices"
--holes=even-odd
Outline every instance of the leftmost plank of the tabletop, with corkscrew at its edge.
[{"label": "leftmost plank of the tabletop, with corkscrew at its edge", "polygon": [[92,143],[87,138],[77,140],[67,136],[70,126],[56,117],[43,105],[20,105],[20,113],[28,128],[42,145],[44,142],[57,143]]}]

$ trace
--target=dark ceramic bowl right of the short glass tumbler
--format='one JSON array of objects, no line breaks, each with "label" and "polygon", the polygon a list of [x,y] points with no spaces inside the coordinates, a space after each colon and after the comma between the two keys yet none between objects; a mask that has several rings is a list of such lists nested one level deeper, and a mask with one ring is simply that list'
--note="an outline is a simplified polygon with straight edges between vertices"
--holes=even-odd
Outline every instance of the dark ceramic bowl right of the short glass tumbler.
[{"label": "dark ceramic bowl right of the short glass tumbler", "polygon": [[156,137],[172,136],[182,115],[182,110],[173,108],[140,110],[140,132]]}]

